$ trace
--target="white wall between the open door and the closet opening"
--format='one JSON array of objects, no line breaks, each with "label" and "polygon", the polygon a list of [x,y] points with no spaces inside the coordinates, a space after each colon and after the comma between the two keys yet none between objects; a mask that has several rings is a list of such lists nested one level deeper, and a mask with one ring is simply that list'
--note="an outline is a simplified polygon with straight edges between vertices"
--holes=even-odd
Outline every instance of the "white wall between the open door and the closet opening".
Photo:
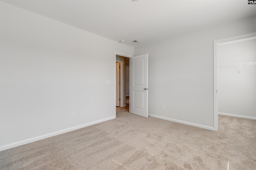
[{"label": "white wall between the open door and the closet opening", "polygon": [[148,113],[213,130],[213,41],[255,31],[252,17],[135,47],[148,53]]}]

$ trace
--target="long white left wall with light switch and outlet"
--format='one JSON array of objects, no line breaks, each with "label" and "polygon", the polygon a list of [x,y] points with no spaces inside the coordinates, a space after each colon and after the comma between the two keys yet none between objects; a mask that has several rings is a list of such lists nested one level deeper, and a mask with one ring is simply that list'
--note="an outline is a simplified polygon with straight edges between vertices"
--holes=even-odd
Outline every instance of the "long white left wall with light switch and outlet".
[{"label": "long white left wall with light switch and outlet", "polygon": [[133,47],[4,2],[0,12],[0,150],[115,118],[115,51]]}]

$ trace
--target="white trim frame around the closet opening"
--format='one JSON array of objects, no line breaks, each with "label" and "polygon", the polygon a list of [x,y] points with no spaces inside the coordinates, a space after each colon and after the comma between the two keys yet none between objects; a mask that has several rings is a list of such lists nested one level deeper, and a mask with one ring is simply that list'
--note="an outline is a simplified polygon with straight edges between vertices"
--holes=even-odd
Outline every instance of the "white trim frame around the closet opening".
[{"label": "white trim frame around the closet opening", "polygon": [[255,37],[256,32],[218,39],[213,41],[213,116],[214,116],[214,131],[218,131],[218,45],[228,43],[230,41],[240,41],[242,39]]}]

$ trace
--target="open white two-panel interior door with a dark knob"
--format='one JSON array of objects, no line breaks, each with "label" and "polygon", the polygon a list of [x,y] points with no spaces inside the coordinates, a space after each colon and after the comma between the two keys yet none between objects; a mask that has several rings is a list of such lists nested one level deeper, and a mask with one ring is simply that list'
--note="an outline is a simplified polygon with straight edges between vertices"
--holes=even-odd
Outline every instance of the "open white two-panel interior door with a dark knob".
[{"label": "open white two-panel interior door with a dark knob", "polygon": [[148,54],[131,58],[131,113],[148,117]]}]

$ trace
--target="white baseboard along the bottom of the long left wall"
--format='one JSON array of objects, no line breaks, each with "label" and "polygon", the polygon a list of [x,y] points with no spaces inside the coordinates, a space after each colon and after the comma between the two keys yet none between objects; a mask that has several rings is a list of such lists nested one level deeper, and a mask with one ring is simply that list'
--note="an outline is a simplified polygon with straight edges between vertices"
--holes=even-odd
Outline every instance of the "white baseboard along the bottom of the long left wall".
[{"label": "white baseboard along the bottom of the long left wall", "polygon": [[25,145],[25,144],[28,144],[28,143],[32,143],[32,142],[35,142],[35,141],[39,141],[39,140],[42,140],[42,139],[46,139],[48,137],[53,137],[53,136],[56,136],[56,135],[60,135],[62,133],[67,133],[67,132],[70,132],[70,131],[74,131],[76,129],[80,129],[80,128],[83,128],[83,127],[87,127],[87,126],[90,126],[90,125],[94,125],[94,124],[101,123],[101,122],[108,121],[108,120],[115,119],[115,118],[116,118],[115,116],[112,116],[112,117],[108,117],[106,119],[100,119],[100,120],[93,121],[93,122],[90,122],[90,123],[86,123],[86,124],[83,124],[83,125],[78,125],[78,126],[75,126],[75,127],[70,127],[68,129],[63,129],[63,130],[60,130],[60,131],[56,131],[56,132],[53,132],[53,133],[48,133],[46,135],[26,139],[26,140],[23,140],[23,141],[18,141],[18,142],[11,143],[11,144],[8,144],[8,145],[3,145],[3,146],[0,146],[0,151],[10,149],[10,148],[14,148],[14,147],[18,147],[18,146]]}]

